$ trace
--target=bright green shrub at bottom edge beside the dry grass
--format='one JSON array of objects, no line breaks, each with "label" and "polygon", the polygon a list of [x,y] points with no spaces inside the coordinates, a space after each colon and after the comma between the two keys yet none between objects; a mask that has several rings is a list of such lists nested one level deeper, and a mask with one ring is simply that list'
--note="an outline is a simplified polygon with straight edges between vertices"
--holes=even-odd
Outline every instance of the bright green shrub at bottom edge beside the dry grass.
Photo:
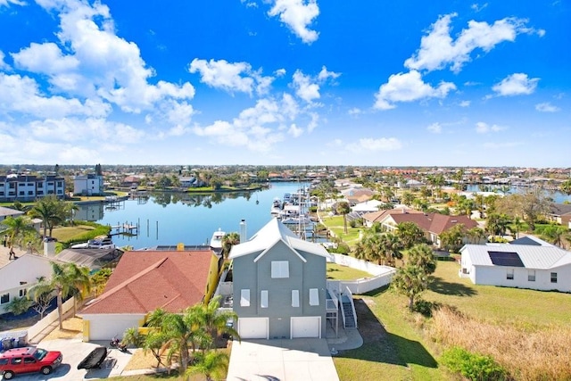
[{"label": "bright green shrub at bottom edge beside the dry grass", "polygon": [[443,365],[454,373],[473,381],[506,380],[508,372],[491,356],[471,353],[460,347],[443,352]]}]

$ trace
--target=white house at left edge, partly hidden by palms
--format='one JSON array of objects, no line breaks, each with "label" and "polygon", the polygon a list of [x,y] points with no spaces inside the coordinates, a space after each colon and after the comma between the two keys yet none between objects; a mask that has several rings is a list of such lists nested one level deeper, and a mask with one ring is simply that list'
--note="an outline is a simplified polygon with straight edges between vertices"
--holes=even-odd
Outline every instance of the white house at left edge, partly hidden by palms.
[{"label": "white house at left edge, partly hidden by palms", "polygon": [[50,261],[54,258],[24,254],[0,268],[0,314],[7,312],[5,307],[14,298],[26,296],[29,288],[37,284],[38,277],[52,277]]}]

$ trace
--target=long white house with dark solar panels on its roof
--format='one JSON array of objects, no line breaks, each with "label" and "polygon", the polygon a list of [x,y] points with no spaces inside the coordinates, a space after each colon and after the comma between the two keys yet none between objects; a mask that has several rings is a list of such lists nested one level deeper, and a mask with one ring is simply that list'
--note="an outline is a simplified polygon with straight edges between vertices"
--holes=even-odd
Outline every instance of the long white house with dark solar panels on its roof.
[{"label": "long white house with dark solar panels on its roof", "polygon": [[459,276],[475,285],[571,292],[571,252],[557,246],[467,244],[460,253]]}]

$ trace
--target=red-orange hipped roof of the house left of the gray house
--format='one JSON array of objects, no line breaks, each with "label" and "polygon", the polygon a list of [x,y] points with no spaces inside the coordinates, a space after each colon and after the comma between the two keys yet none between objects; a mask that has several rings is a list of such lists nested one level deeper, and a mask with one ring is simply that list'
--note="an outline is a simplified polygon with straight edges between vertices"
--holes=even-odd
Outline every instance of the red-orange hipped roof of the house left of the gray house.
[{"label": "red-orange hipped roof of the house left of the gray house", "polygon": [[181,311],[203,300],[212,255],[210,250],[124,253],[104,293],[82,313]]}]

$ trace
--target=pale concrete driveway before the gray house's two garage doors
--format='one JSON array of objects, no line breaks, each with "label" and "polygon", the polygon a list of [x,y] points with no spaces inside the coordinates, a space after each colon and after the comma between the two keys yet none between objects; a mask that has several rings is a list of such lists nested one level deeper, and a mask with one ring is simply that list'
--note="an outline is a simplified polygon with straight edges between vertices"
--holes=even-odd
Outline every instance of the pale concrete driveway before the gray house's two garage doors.
[{"label": "pale concrete driveway before the gray house's two garage doors", "polygon": [[228,381],[338,381],[326,339],[232,343]]}]

